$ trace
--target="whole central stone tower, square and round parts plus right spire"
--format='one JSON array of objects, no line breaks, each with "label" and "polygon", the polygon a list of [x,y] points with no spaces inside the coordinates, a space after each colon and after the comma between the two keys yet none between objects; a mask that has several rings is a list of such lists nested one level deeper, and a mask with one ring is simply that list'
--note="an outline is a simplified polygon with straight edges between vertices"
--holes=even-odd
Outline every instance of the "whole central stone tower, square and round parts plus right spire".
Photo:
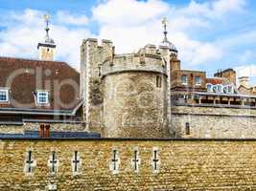
[{"label": "whole central stone tower, square and round parts plus right spire", "polygon": [[[166,25],[165,25],[166,27]],[[115,54],[109,40],[81,45],[81,97],[88,130],[107,138],[167,138],[171,124],[171,64],[175,46]]]}]

